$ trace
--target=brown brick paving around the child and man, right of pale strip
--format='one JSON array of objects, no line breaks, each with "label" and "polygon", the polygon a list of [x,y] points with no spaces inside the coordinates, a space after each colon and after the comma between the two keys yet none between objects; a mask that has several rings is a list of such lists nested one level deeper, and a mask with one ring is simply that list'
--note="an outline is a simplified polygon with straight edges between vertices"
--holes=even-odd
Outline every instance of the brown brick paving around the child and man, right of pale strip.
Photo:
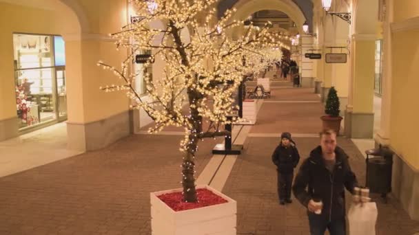
[{"label": "brown brick paving around the child and man, right of pale strip", "polygon": [[[302,160],[318,145],[318,138],[294,140]],[[279,138],[249,137],[245,142],[244,153],[238,156],[225,184],[223,193],[238,202],[238,234],[309,234],[305,208],[296,199],[292,204],[285,206],[278,203],[276,168],[271,161],[272,151],[278,142]],[[361,153],[350,139],[338,137],[338,144],[350,156],[351,167],[363,184],[365,161]],[[419,231],[419,222],[409,219],[396,199],[390,198],[387,204],[382,203],[377,197],[374,199],[379,213],[378,235],[410,235]]]}]

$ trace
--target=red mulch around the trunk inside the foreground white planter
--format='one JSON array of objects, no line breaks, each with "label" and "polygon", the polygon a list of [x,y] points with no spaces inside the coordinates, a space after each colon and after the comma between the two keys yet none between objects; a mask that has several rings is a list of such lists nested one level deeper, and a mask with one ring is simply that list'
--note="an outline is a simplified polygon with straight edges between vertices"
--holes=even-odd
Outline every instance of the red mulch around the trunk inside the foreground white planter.
[{"label": "red mulch around the trunk inside the foreground white planter", "polygon": [[190,210],[195,208],[203,208],[209,205],[218,205],[221,203],[226,203],[227,200],[223,199],[222,197],[214,194],[210,190],[206,188],[199,188],[196,190],[198,194],[198,203],[187,203],[183,201],[183,194],[182,192],[171,192],[167,194],[159,195],[159,199],[166,203],[170,208],[172,208],[175,212],[181,210]]}]

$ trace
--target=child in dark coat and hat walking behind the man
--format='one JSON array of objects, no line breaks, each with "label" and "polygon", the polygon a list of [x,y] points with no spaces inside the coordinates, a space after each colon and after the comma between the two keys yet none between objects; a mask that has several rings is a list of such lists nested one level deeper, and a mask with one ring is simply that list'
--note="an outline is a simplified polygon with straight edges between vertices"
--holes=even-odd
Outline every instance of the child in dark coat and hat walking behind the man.
[{"label": "child in dark coat and hat walking behind the man", "polygon": [[300,155],[290,133],[282,133],[280,139],[280,144],[272,154],[272,161],[274,161],[278,171],[279,201],[281,205],[285,205],[285,203],[292,203],[292,179],[294,178],[294,168],[300,161]]}]

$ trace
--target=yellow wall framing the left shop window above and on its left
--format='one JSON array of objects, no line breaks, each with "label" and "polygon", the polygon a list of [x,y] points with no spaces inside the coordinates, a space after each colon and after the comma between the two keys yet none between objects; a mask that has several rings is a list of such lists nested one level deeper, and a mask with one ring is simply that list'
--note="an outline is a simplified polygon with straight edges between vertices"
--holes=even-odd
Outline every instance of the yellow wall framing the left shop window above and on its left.
[{"label": "yellow wall framing the left shop window above and on its left", "polygon": [[54,12],[0,3],[0,120],[16,117],[13,32],[58,34]]}]

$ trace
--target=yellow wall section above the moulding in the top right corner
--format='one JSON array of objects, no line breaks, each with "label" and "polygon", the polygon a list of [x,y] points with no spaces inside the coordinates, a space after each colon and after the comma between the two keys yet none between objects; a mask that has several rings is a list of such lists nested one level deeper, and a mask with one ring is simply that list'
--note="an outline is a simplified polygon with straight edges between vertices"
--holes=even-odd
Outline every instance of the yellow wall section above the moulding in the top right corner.
[{"label": "yellow wall section above the moulding in the top right corner", "polygon": [[418,0],[394,0],[394,21],[404,21],[419,16]]}]

